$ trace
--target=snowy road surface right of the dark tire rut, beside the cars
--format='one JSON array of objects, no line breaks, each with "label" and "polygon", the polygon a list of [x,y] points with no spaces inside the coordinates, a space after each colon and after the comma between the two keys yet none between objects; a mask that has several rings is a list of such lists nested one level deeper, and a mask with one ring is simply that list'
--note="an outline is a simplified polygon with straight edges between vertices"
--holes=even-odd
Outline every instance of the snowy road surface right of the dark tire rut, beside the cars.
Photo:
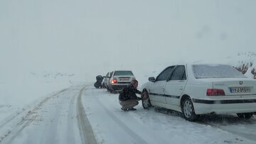
[{"label": "snowy road surface right of the dark tire rut, beside the cars", "polygon": [[255,143],[256,119],[236,116],[206,116],[197,123],[178,113],[144,110],[124,112],[118,94],[105,89],[87,89],[83,104],[98,143]]}]

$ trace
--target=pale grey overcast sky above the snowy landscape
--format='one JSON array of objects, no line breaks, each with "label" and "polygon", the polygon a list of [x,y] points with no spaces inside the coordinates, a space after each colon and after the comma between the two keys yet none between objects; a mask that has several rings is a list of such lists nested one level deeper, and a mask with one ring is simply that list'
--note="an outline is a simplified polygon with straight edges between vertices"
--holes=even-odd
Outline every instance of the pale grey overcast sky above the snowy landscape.
[{"label": "pale grey overcast sky above the snowy landscape", "polygon": [[255,6],[255,0],[1,0],[1,71],[218,61],[255,51]]}]

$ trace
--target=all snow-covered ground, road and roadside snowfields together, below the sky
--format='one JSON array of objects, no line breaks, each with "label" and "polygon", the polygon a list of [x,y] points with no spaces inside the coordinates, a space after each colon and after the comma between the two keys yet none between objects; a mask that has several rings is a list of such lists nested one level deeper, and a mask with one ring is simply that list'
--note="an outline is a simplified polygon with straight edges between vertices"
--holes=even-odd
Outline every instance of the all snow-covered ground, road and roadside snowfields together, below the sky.
[{"label": "all snow-covered ground, road and roadside snowfields together, below the sky", "polygon": [[[247,62],[247,57],[240,60]],[[137,66],[139,85],[164,67]],[[174,111],[144,110],[141,103],[137,111],[124,112],[118,94],[92,84],[78,81],[75,74],[44,72],[27,74],[22,84],[1,83],[0,143],[85,143],[90,139],[86,133],[93,133],[96,143],[110,144],[256,143],[255,118],[215,115],[192,123]],[[85,131],[84,123],[90,123],[92,132]]]}]

